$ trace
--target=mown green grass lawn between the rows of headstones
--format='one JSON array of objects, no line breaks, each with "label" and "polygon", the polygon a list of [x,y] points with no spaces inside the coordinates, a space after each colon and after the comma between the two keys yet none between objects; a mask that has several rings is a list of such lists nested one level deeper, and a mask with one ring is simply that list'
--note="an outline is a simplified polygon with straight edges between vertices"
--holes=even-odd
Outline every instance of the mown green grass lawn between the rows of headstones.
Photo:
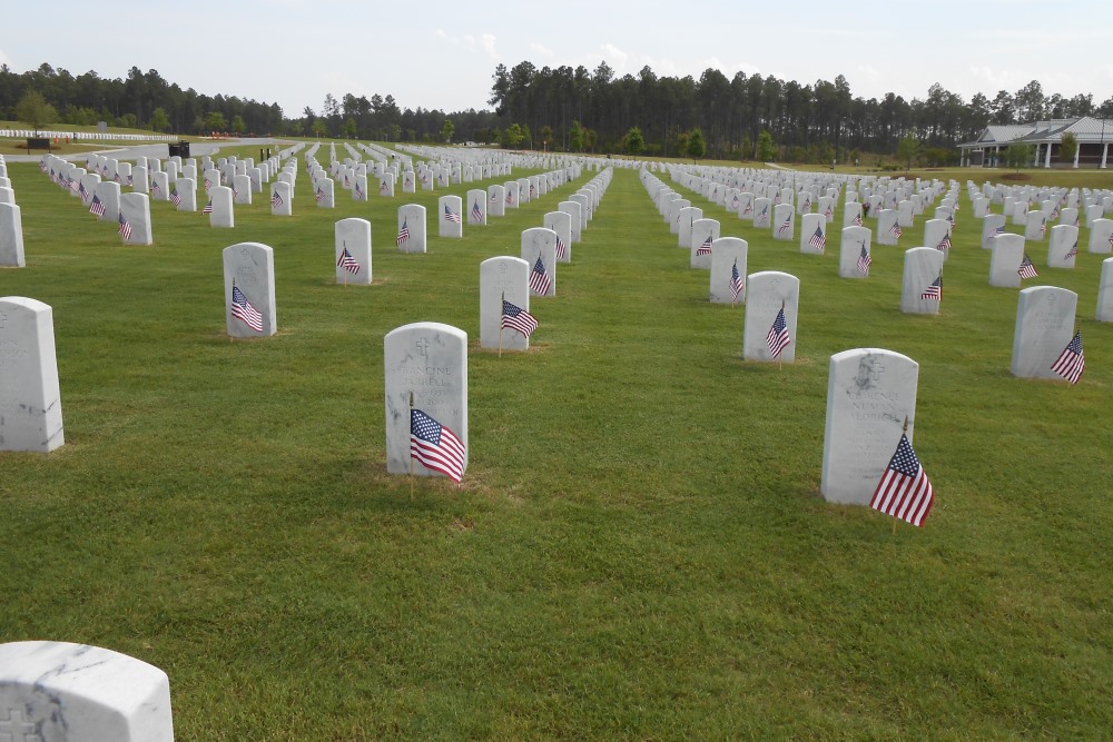
[{"label": "mown green grass lawn between the rows of headstones", "polygon": [[[435,215],[466,185],[337,189],[318,209],[303,172],[290,218],[265,195],[235,229],[152,202],[155,245],[121,247],[35,165],[9,174],[27,267],[0,270],[0,296],[53,308],[66,445],[0,454],[0,641],[161,667],[177,739],[1113,725],[1113,327],[1092,319],[1106,256],[1052,270],[1046,241],[1030,246],[1025,286],[1078,294],[1086,372],[1025,380],[1016,290],[988,286],[965,194],[938,316],[899,310],[922,219],[844,280],[836,229],[827,255],[801,255],[686,194],[749,240],[748,273],[801,280],[796,362],[749,363],[745,307],[708,303],[707,271],[620,169],[556,297],[531,304],[531,349],[499,358],[479,349],[480,263],[518,255],[588,175],[462,239],[431,218],[429,253],[405,255],[396,208]],[[373,225],[370,287],[335,283],[349,216]],[[227,337],[220,250],[239,241],[275,250],[274,337]],[[469,334],[460,488],[385,472],[383,336],[420,320]],[[920,364],[923,528],[819,496],[828,359],[855,347]]]}]

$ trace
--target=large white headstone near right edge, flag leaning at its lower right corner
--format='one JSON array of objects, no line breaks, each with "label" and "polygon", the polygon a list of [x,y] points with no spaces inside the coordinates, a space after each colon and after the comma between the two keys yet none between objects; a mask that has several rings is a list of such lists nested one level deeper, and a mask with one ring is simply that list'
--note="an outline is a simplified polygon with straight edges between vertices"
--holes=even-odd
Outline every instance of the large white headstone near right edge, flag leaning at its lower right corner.
[{"label": "large white headstone near right edge, flag leaning at its lower right corner", "polygon": [[1013,330],[1013,376],[1062,380],[1052,364],[1074,337],[1078,295],[1057,286],[1021,290]]}]

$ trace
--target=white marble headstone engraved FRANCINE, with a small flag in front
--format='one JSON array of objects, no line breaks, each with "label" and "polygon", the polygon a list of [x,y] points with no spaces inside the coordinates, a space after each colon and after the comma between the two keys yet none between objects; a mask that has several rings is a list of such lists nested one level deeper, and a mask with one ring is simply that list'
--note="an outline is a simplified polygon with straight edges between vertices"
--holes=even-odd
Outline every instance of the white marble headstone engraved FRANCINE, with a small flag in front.
[{"label": "white marble headstone engraved FRANCINE, with a small flag in front", "polygon": [[[410,409],[425,413],[464,445],[467,467],[467,333],[441,323],[396,327],[383,338],[386,471],[443,476],[410,456]],[[411,397],[412,395],[412,397]]]}]

